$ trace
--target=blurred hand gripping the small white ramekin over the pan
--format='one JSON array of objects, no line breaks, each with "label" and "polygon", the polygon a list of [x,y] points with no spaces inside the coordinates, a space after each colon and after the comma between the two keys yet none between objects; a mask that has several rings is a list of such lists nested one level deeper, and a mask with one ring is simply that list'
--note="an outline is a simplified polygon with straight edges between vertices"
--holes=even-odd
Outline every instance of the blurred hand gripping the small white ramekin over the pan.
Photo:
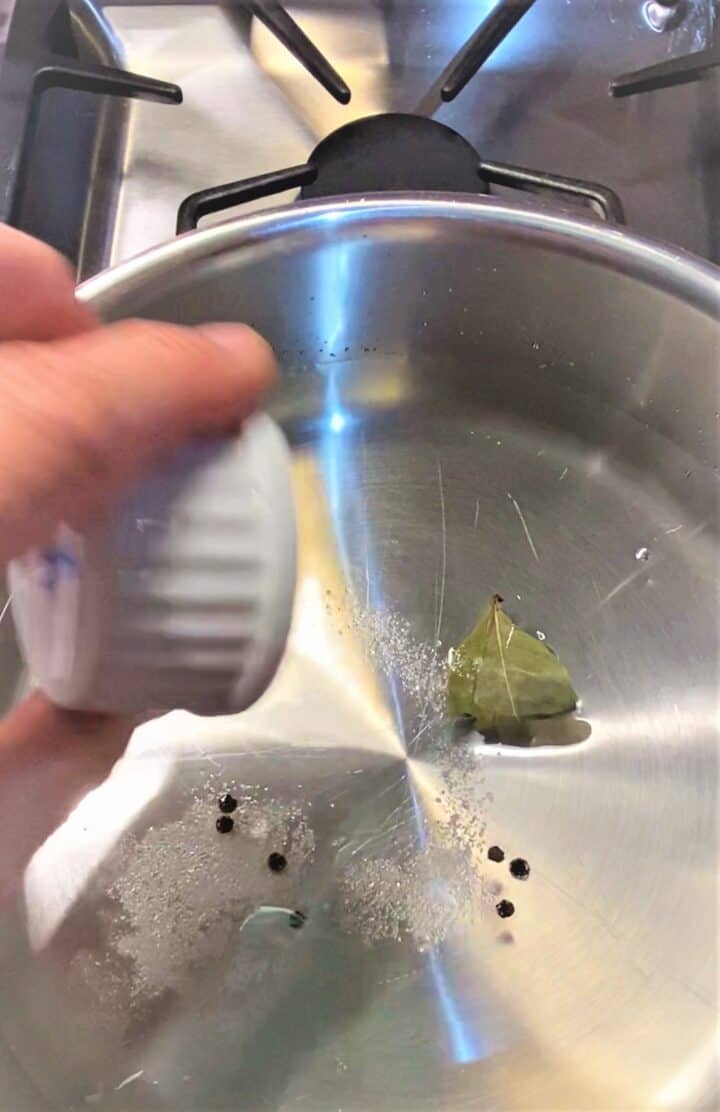
[{"label": "blurred hand gripping the small white ramekin over the pan", "polygon": [[[270,348],[238,325],[101,327],[65,261],[0,226],[0,566],[82,528],[190,436],[256,406]],[[0,907],[27,862],[125,751],[136,723],[81,715],[34,693],[0,722]],[[42,798],[43,805],[37,806]]]}]

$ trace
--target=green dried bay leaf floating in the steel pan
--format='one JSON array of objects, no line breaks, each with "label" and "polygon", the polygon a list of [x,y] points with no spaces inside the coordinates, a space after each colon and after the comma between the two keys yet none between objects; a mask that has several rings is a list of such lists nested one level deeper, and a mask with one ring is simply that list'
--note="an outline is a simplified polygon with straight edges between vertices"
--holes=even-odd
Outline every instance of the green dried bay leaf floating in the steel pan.
[{"label": "green dried bay leaf floating in the steel pan", "polygon": [[543,642],[519,629],[495,595],[472,633],[451,654],[447,711],[470,715],[483,733],[574,711],[565,666]]}]

